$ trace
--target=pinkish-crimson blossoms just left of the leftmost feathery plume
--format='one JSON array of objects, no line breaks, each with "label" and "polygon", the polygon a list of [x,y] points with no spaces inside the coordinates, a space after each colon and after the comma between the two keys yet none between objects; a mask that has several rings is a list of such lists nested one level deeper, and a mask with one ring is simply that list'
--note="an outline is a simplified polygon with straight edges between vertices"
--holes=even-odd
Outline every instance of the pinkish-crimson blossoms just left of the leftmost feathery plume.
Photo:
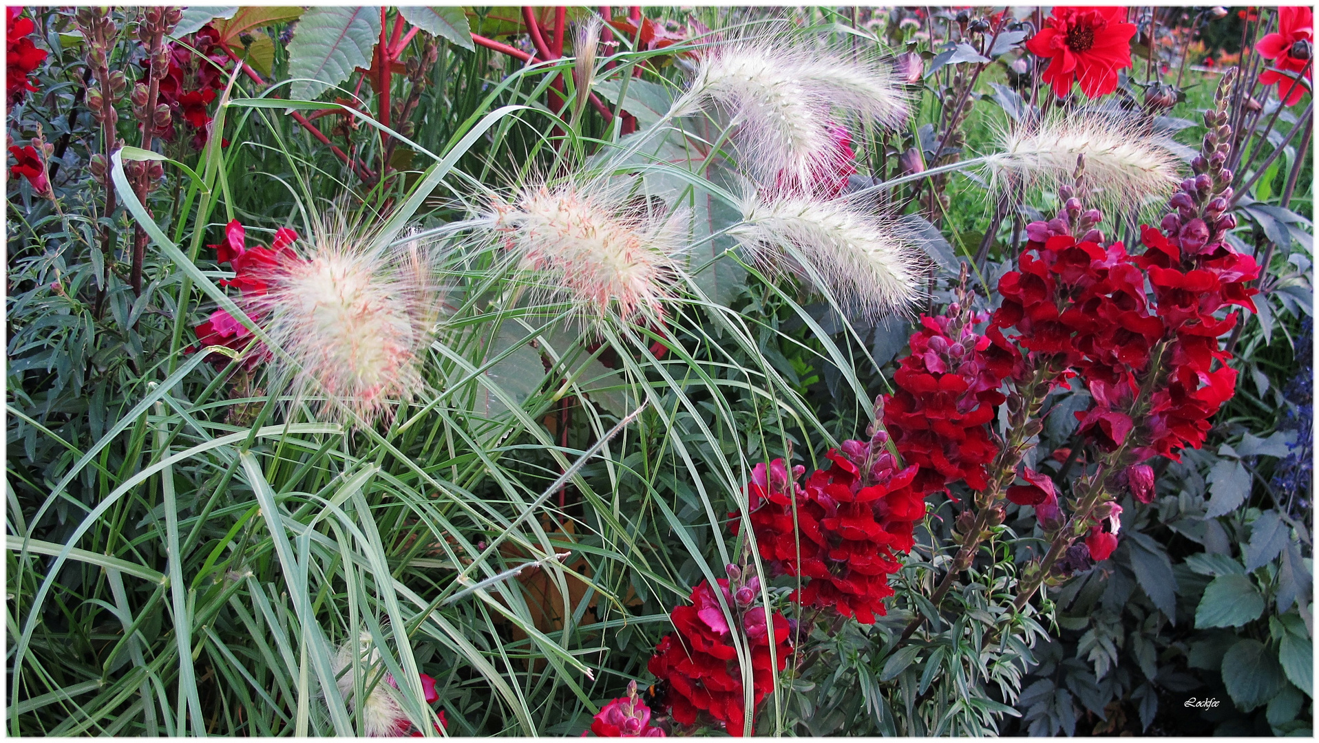
[{"label": "pinkish-crimson blossoms just left of the leftmost feathery plume", "polygon": [[[224,242],[207,245],[207,248],[215,248],[218,262],[230,263],[233,267],[233,278],[220,279],[220,286],[236,287],[243,292],[243,299],[247,300],[248,307],[255,308],[256,304],[252,300],[265,296],[269,292],[270,281],[280,265],[286,261],[298,260],[290,249],[297,240],[298,233],[285,227],[276,231],[270,248],[248,248],[243,225],[239,224],[239,220],[233,220],[224,227]],[[252,320],[257,324],[261,323],[260,316],[252,316]],[[198,344],[189,346],[185,353],[194,353],[212,345],[243,350],[252,343],[252,331],[239,323],[226,310],[211,312],[211,316],[200,325],[197,325],[194,332],[197,333]],[[223,368],[228,364],[228,357],[224,354],[211,353],[210,356],[207,361],[216,365],[216,368]],[[243,368],[252,370],[269,357],[269,349],[261,345],[253,353],[247,354],[243,360]]]}]

